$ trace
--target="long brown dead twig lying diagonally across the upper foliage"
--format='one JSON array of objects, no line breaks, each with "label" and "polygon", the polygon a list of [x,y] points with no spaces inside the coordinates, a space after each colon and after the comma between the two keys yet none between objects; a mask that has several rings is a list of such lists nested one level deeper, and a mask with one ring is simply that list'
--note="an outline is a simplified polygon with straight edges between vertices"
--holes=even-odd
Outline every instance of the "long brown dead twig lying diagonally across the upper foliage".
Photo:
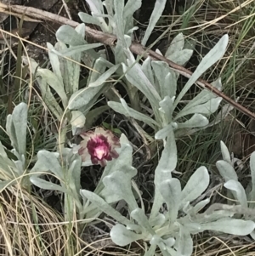
[{"label": "long brown dead twig lying diagonally across the upper foliage", "polygon": [[[77,23],[76,21],[66,19],[65,17],[59,16],[57,14],[52,14],[47,11],[42,11],[41,9],[35,9],[35,8],[20,6],[20,5],[6,5],[6,4],[0,3],[0,12],[12,14],[15,16],[20,16],[20,14],[26,14],[27,17],[31,17],[33,19],[50,20],[53,22],[57,22],[61,25],[65,24],[73,27],[76,27],[79,25],[79,23]],[[96,31],[88,26],[86,27],[86,36],[94,39],[99,43],[104,43],[105,45],[109,45],[111,47],[114,47],[117,41],[116,36],[111,34],[106,34],[102,31]],[[180,73],[184,77],[190,78],[192,76],[191,71],[185,69],[181,65],[177,65],[171,60],[167,60],[167,58],[161,56],[160,54],[156,54],[156,52],[150,49],[144,48],[144,46],[142,46],[140,43],[133,42],[130,46],[130,50],[134,54],[142,55],[144,58],[147,58],[148,56],[150,56],[150,58],[152,58],[153,60],[165,61],[169,66],[171,66],[175,71],[178,71],[178,73]],[[213,94],[216,94],[219,97],[222,97],[230,105],[233,105],[235,109],[241,111],[246,116],[251,117],[252,119],[255,120],[255,114],[252,113],[252,111],[247,110],[246,107],[235,102],[235,100],[230,99],[229,96],[225,95],[224,93],[219,91],[217,88],[212,87],[212,84],[210,84],[209,82],[202,79],[198,79],[196,83],[202,88],[207,88],[208,90],[212,91]]]}]

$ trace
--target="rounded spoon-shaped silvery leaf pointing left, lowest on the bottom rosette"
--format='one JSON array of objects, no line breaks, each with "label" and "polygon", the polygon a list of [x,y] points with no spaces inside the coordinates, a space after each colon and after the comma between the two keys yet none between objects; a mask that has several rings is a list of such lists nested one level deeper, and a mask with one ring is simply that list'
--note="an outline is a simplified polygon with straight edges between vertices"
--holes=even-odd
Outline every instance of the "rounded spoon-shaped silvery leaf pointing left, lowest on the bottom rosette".
[{"label": "rounded spoon-shaped silvery leaf pointing left, lowest on the bottom rosette", "polygon": [[128,244],[135,242],[137,240],[143,239],[143,235],[135,234],[124,225],[114,225],[110,231],[110,236],[112,242],[116,243],[118,246],[127,246]]}]

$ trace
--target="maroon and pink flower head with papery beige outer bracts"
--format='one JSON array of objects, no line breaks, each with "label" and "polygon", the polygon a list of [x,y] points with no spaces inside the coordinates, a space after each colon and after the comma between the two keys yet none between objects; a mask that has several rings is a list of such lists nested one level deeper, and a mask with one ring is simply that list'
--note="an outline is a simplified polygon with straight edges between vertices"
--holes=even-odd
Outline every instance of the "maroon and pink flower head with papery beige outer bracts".
[{"label": "maroon and pink flower head with papery beige outer bracts", "polygon": [[120,140],[103,128],[95,128],[93,131],[80,134],[83,140],[80,143],[78,154],[82,156],[82,162],[88,161],[90,157],[93,164],[100,164],[105,167],[106,160],[111,161],[119,155],[115,148],[120,147]]}]

